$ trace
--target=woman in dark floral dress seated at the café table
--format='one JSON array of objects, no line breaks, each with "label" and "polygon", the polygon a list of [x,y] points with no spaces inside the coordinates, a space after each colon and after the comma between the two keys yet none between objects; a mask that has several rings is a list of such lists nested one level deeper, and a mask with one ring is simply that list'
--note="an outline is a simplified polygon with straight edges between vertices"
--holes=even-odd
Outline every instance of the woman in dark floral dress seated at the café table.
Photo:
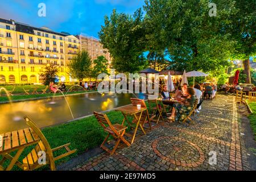
[{"label": "woman in dark floral dress seated at the caf\u00e9 table", "polygon": [[188,96],[184,101],[174,104],[172,115],[170,118],[168,118],[169,121],[182,122],[193,109],[193,105],[196,100],[195,90],[191,87],[188,87],[187,94]]}]

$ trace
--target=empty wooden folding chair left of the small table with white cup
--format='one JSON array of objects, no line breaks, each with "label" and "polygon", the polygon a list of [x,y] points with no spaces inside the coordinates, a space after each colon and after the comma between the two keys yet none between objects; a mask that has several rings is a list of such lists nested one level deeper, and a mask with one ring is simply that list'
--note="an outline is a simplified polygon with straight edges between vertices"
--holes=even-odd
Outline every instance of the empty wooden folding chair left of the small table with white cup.
[{"label": "empty wooden folding chair left of the small table with white cup", "polygon": [[[109,118],[106,114],[97,113],[96,111],[94,111],[93,114],[95,115],[100,125],[103,127],[104,131],[108,132],[108,135],[106,136],[106,138],[101,144],[102,149],[109,152],[110,155],[113,155],[115,150],[117,150],[117,147],[121,140],[127,146],[131,146],[131,144],[123,137],[123,135],[125,135],[125,130],[127,129],[127,126],[123,126],[118,123],[115,123],[114,125],[112,125],[112,123],[109,121]],[[117,141],[115,142],[115,146],[113,147],[112,150],[109,150],[108,147],[104,146],[104,144],[107,142],[110,135],[112,135],[115,139],[117,139]]]}]

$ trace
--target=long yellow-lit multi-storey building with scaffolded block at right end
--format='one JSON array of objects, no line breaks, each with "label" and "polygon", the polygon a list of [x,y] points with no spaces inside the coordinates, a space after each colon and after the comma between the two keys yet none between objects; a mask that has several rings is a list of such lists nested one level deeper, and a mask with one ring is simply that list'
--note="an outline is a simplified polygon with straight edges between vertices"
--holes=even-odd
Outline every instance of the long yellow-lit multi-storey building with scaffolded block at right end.
[{"label": "long yellow-lit multi-storey building with scaffolded block at right end", "polygon": [[97,39],[0,18],[0,84],[42,82],[40,72],[50,63],[59,67],[60,81],[72,82],[68,65],[81,49],[92,59],[104,55],[110,61],[108,51]]}]

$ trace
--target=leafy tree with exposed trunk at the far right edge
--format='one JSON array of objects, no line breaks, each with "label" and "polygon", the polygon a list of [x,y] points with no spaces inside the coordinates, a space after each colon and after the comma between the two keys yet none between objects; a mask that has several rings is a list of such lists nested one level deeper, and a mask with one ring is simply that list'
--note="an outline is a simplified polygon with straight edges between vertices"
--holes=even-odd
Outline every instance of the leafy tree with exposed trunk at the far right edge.
[{"label": "leafy tree with exposed trunk at the far right edge", "polygon": [[243,60],[246,83],[251,83],[250,56],[256,55],[256,1],[243,0],[234,1],[232,19],[225,29],[230,32],[236,40],[236,51],[233,52],[234,59]]}]

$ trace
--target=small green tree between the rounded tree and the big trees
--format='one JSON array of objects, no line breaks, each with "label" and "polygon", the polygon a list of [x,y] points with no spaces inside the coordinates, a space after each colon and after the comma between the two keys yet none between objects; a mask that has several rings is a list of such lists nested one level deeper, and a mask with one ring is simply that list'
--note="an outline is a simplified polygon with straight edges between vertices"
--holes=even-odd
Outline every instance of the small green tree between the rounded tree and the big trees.
[{"label": "small green tree between the rounded tree and the big trees", "polygon": [[108,73],[108,60],[104,56],[93,60],[92,77],[97,78],[100,73]]}]

